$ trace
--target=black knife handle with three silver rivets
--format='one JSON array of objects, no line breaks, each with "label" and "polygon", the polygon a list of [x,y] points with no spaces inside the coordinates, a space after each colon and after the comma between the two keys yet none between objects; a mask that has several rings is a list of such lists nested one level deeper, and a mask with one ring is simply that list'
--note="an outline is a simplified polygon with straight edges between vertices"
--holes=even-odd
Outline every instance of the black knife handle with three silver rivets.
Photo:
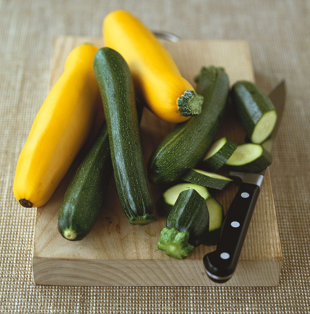
[{"label": "black knife handle with three silver rivets", "polygon": [[258,185],[244,182],[241,184],[223,221],[216,250],[203,258],[206,273],[211,280],[224,283],[232,277],[258,195]]}]

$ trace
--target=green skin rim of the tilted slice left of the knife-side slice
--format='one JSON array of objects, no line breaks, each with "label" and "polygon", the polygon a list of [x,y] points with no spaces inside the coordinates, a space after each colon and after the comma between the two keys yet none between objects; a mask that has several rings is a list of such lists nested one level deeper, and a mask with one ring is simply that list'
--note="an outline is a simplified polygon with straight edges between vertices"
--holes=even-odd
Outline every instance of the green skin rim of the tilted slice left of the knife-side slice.
[{"label": "green skin rim of the tilted slice left of the knife-side slice", "polygon": [[207,169],[210,169],[212,171],[220,169],[223,165],[225,165],[225,162],[231,157],[233,152],[237,149],[237,144],[234,141],[227,138],[226,136],[225,138],[226,143],[224,144],[224,146],[213,156],[202,161],[203,165],[205,165]]}]

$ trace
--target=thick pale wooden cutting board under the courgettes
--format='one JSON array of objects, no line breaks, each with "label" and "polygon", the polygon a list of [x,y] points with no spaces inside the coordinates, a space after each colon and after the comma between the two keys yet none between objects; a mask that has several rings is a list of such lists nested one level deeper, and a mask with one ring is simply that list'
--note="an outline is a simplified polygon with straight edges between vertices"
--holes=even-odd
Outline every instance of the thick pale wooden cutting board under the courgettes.
[{"label": "thick pale wooden cutting board under the courgettes", "polygon": [[[54,40],[51,67],[52,86],[63,71],[69,52],[82,42],[103,46],[98,38],[61,37]],[[193,86],[193,77],[202,65],[225,67],[231,84],[236,80],[254,81],[249,46],[244,41],[164,42],[182,75]],[[228,115],[233,115],[229,113]],[[159,120],[144,109],[140,127],[145,163],[173,125]],[[238,120],[224,123],[221,134],[241,143],[244,138]],[[199,246],[179,261],[157,249],[166,218],[155,208],[157,222],[132,226],[120,207],[112,179],[99,219],[86,238],[70,242],[57,230],[58,208],[77,163],[72,165],[50,201],[37,209],[32,267],[36,284],[86,286],[215,286],[207,277],[203,256],[215,246]],[[154,205],[162,187],[150,185]],[[238,185],[213,195],[227,211]],[[270,173],[259,195],[237,270],[225,286],[275,286],[282,265]]]}]

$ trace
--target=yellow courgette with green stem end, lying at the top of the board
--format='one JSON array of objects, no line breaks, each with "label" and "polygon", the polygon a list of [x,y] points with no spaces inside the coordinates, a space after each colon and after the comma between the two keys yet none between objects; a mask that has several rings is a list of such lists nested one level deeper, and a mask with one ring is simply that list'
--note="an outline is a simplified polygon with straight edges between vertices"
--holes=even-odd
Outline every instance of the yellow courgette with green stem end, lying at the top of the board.
[{"label": "yellow courgette with green stem end, lying at the top of the board", "polygon": [[138,98],[161,119],[183,122],[201,112],[203,97],[181,76],[165,47],[138,19],[113,11],[103,23],[104,43],[126,60]]}]

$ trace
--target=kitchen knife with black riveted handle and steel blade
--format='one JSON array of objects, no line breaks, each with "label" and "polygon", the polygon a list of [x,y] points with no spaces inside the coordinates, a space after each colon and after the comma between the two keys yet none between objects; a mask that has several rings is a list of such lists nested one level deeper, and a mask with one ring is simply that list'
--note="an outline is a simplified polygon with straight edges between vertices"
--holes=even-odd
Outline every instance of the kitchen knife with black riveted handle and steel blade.
[{"label": "kitchen knife with black riveted handle and steel blade", "polygon": [[[270,138],[263,143],[263,147],[271,152],[284,110],[285,80],[277,84],[269,98],[278,114]],[[203,258],[206,273],[214,282],[224,283],[233,276],[266,171],[229,173],[229,176],[241,179],[242,183],[223,221],[216,250]]]}]

